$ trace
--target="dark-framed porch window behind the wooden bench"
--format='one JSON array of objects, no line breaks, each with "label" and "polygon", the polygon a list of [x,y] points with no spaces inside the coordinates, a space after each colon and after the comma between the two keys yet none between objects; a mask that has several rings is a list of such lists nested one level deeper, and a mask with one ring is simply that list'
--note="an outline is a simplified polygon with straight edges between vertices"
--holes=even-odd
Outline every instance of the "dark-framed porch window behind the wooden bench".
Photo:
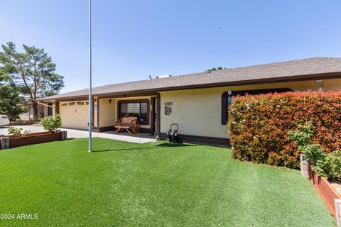
[{"label": "dark-framed porch window behind the wooden bench", "polygon": [[149,101],[119,101],[119,118],[136,116],[141,125],[149,124]]}]

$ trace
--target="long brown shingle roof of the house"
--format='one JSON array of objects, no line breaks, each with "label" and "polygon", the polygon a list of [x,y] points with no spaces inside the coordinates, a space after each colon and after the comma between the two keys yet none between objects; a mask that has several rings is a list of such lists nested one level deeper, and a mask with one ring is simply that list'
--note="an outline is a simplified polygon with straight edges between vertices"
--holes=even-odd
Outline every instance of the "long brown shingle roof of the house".
[{"label": "long brown shingle roof of the house", "polygon": [[[214,72],[185,74],[175,77],[146,79],[136,82],[109,84],[92,88],[94,96],[129,92],[158,92],[172,89],[215,87],[220,85],[251,84],[299,79],[341,77],[341,57],[313,57]],[[87,89],[49,96],[40,100],[66,99],[87,96]]]}]

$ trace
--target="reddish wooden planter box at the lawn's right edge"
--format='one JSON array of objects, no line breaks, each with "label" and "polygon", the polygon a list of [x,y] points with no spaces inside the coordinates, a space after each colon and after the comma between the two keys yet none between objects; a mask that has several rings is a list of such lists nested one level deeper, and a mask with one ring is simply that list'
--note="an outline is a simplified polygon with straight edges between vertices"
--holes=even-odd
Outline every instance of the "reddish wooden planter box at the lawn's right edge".
[{"label": "reddish wooden planter box at the lawn's right edge", "polygon": [[320,177],[311,170],[310,166],[311,165],[308,163],[308,178],[318,191],[318,194],[322,197],[323,201],[325,201],[325,204],[327,204],[332,215],[335,216],[335,199],[341,199],[341,195],[336,192],[334,187],[332,187],[325,177]]}]

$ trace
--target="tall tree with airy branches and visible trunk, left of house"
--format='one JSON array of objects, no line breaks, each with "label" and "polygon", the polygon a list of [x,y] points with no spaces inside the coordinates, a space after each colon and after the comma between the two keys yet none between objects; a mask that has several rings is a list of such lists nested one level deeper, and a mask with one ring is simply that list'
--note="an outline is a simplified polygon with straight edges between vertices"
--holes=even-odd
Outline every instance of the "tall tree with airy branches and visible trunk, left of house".
[{"label": "tall tree with airy branches and visible trunk, left of house", "polygon": [[38,101],[42,96],[58,94],[64,87],[63,76],[55,73],[55,63],[44,49],[23,45],[24,52],[17,52],[12,42],[2,45],[0,63],[3,72],[21,88],[21,93],[31,101],[33,118],[38,120]]}]

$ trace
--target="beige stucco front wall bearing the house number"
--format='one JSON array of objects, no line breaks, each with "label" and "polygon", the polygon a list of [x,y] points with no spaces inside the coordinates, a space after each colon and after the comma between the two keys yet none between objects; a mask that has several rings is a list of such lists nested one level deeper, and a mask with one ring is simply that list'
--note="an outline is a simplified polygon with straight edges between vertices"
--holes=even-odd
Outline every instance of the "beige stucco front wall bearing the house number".
[{"label": "beige stucco front wall bearing the house number", "polygon": [[[222,93],[231,91],[289,88],[293,91],[318,90],[313,81],[255,84],[208,89],[188,89],[161,94],[161,133],[166,133],[171,123],[179,124],[184,135],[229,138],[228,128],[221,124]],[[324,79],[323,90],[341,89],[341,79]],[[165,115],[165,102],[172,102],[172,114]]]}]

